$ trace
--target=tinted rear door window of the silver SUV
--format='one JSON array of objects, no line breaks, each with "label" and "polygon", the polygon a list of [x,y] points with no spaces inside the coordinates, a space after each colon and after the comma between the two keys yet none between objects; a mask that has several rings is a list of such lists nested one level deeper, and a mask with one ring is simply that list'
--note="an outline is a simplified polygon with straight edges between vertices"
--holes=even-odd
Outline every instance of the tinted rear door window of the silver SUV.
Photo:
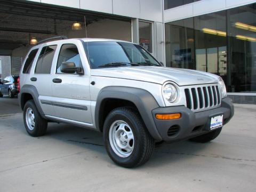
[{"label": "tinted rear door window of the silver SUV", "polygon": [[57,45],[45,46],[40,52],[36,63],[36,74],[50,74],[52,67],[52,60],[56,51]]}]

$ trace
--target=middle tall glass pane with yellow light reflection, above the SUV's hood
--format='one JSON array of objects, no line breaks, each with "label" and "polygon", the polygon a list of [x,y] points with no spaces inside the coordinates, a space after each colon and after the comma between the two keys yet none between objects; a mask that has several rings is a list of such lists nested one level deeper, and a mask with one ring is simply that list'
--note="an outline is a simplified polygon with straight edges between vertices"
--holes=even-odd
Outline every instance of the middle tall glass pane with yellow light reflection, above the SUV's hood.
[{"label": "middle tall glass pane with yellow light reflection, above the SUV's hood", "polygon": [[[227,47],[226,11],[220,11],[216,13],[205,14],[195,17],[194,25],[196,69],[203,69],[203,71],[213,73],[216,75],[220,75],[220,71],[222,71],[222,78],[224,79],[224,81],[226,81],[227,76],[225,76],[226,74],[223,73],[223,68],[220,70],[221,59],[219,51],[219,49],[221,51],[225,51]],[[203,57],[203,49],[205,50],[205,63],[202,63],[201,59]],[[224,61],[221,62],[223,63]]]}]

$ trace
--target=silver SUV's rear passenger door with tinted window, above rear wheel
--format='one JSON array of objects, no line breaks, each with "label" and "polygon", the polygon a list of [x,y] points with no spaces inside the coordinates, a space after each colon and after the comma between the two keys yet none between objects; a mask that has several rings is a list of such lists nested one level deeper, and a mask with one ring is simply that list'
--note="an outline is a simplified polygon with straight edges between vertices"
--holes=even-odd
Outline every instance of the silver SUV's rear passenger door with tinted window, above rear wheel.
[{"label": "silver SUV's rear passenger door with tinted window, above rear wheel", "polygon": [[39,104],[45,115],[55,116],[52,101],[52,63],[54,62],[57,44],[44,44],[39,50],[38,59],[32,69],[29,79],[31,85],[34,85],[39,94]]}]

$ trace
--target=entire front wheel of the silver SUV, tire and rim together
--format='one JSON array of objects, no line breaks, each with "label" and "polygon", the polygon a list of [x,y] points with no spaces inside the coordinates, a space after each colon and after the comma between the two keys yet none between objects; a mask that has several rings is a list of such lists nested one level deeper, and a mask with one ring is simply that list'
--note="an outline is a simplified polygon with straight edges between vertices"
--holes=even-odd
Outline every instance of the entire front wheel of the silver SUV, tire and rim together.
[{"label": "entire front wheel of the silver SUV, tire and rim together", "polygon": [[111,111],[103,126],[103,137],[108,155],[123,167],[146,163],[153,153],[154,139],[139,113],[132,108]]}]

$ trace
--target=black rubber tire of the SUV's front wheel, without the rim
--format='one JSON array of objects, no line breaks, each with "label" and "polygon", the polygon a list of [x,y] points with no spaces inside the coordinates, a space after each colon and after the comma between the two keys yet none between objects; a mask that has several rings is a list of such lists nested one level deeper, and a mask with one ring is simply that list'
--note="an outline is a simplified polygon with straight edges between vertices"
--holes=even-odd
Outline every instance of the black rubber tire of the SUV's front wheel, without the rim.
[{"label": "black rubber tire of the SUV's front wheel, without the rim", "polygon": [[[118,120],[126,122],[133,132],[134,148],[128,157],[118,156],[110,145],[110,126]],[[103,138],[109,157],[123,167],[135,167],[146,163],[153,153],[155,144],[139,113],[129,107],[116,108],[108,114],[103,126]]]}]

